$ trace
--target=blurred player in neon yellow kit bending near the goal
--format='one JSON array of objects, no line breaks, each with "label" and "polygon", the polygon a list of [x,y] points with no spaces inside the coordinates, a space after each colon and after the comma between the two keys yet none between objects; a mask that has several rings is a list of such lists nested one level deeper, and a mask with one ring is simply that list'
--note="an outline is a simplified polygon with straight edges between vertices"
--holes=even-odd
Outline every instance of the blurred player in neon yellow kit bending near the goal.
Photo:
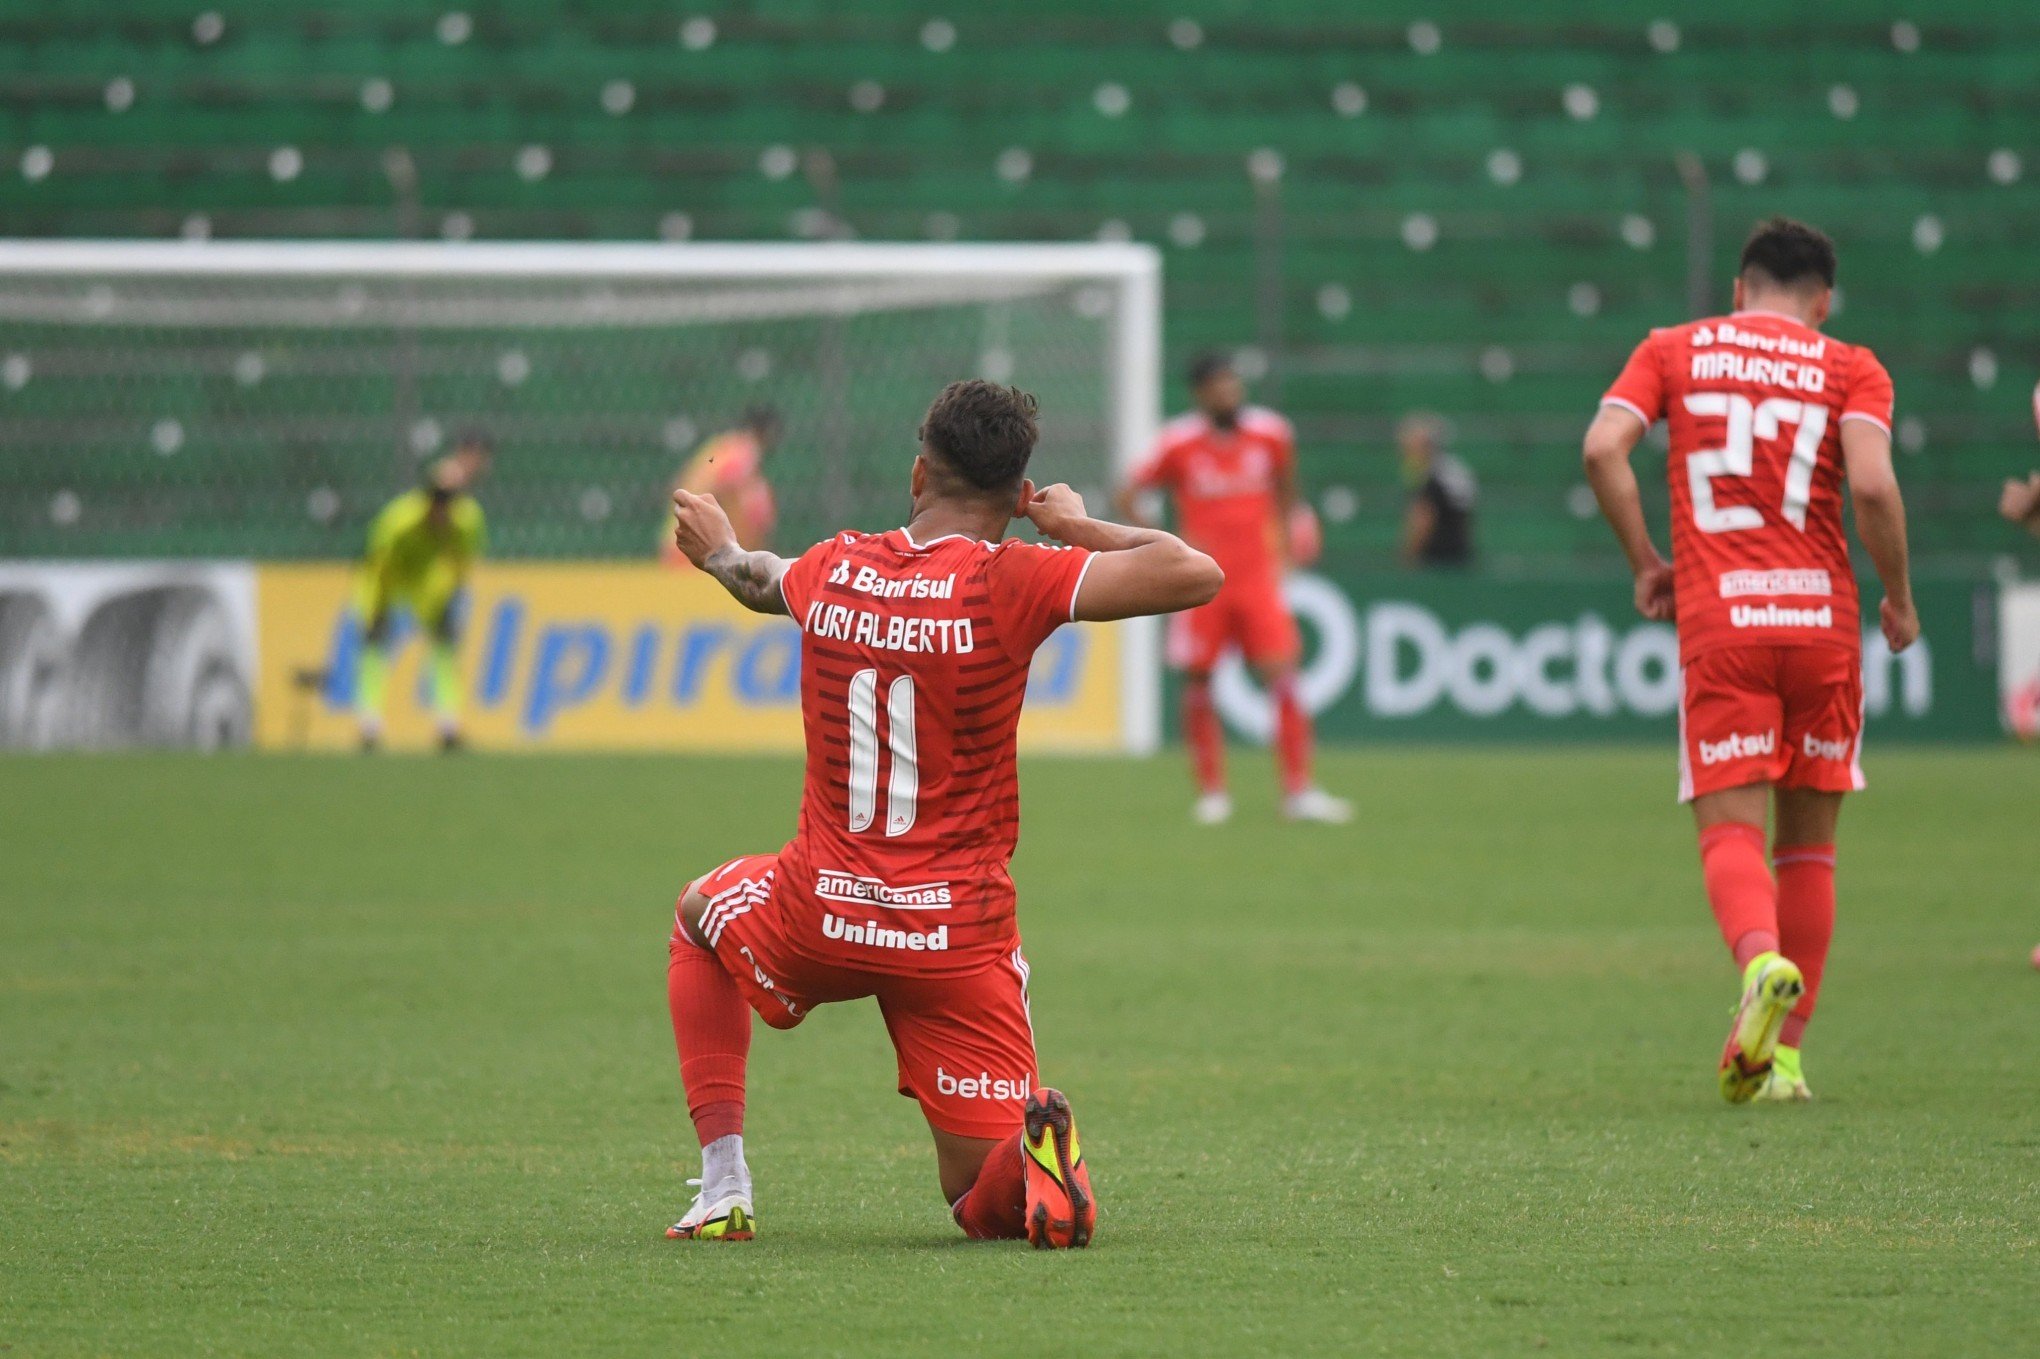
[{"label": "blurred player in neon yellow kit bending near the goal", "polygon": [[453,453],[432,463],[424,486],[386,504],[369,524],[369,549],[355,571],[355,614],[361,618],[355,714],[363,751],[381,743],[398,610],[408,612],[430,639],[439,745],[445,751],[461,745],[463,590],[486,539],[473,490],[490,467],[490,455],[488,439],[463,435]]}]

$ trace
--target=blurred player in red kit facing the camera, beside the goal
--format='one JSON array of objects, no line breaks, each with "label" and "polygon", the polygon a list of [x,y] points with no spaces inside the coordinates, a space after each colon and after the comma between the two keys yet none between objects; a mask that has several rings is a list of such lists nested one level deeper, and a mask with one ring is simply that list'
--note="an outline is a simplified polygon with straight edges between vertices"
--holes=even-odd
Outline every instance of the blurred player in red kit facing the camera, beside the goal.
[{"label": "blurred player in red kit facing the camera, beside the goal", "polygon": [[1348,820],[1353,806],[1312,779],[1310,712],[1295,692],[1304,639],[1281,592],[1295,561],[1291,537],[1316,539],[1316,520],[1295,494],[1295,435],[1273,410],[1246,404],[1246,386],[1220,355],[1191,363],[1189,392],[1197,408],[1163,426],[1118,504],[1140,522],[1140,494],[1165,492],[1183,537],[1226,569],[1218,598],[1169,628],[1169,663],[1183,671],[1183,739],[1197,767],[1193,814],[1208,826],[1232,816],[1212,671],[1236,647],[1275,702],[1283,816]]}]

